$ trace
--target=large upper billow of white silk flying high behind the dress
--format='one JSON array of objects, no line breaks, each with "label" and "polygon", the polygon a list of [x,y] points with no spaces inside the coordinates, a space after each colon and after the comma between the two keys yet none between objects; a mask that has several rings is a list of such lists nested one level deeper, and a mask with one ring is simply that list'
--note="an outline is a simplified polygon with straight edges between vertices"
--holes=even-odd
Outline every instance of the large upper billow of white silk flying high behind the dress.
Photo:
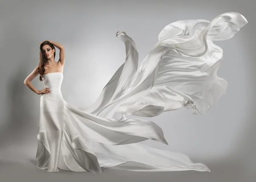
[{"label": "large upper billow of white silk flying high behind the dress", "polygon": [[212,40],[230,39],[247,23],[237,12],[221,14],[212,21],[170,23],[139,69],[137,44],[125,32],[117,32],[125,43],[125,63],[97,101],[82,110],[109,118],[117,116],[115,113],[153,117],[181,107],[205,114],[226,93],[228,85],[217,75],[223,50]]}]

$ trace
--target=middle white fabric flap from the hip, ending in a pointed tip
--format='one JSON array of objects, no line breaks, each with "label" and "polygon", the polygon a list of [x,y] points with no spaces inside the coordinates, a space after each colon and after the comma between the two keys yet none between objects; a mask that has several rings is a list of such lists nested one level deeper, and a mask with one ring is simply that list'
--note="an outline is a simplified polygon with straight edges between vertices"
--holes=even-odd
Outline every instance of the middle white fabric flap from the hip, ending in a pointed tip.
[{"label": "middle white fabric flap from the hip, ending in a pointed tip", "polygon": [[[79,110],[65,101],[69,133],[77,133],[85,141],[120,145],[151,139],[168,144],[163,130],[152,121],[141,118],[109,119]],[[70,122],[72,121],[72,122]]]}]

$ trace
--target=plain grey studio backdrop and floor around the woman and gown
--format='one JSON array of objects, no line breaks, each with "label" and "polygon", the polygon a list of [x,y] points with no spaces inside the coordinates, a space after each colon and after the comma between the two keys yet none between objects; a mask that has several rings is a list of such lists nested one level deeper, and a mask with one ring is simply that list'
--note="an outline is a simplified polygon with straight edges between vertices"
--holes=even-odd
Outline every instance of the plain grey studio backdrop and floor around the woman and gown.
[{"label": "plain grey studio backdrop and floor around the woman and gown", "polygon": [[[255,182],[255,7],[253,0],[1,0],[0,181]],[[239,12],[249,22],[230,40],[214,42],[224,50],[218,76],[228,81],[227,94],[204,116],[182,108],[148,118],[163,128],[169,146],[142,142],[185,153],[211,172],[111,169],[96,175],[35,167],[40,95],[23,81],[38,65],[41,41],[65,46],[61,91],[67,102],[85,107],[125,61],[117,31],[135,40],[141,63],[167,24],[225,12]],[[39,76],[32,84],[44,88]]]}]

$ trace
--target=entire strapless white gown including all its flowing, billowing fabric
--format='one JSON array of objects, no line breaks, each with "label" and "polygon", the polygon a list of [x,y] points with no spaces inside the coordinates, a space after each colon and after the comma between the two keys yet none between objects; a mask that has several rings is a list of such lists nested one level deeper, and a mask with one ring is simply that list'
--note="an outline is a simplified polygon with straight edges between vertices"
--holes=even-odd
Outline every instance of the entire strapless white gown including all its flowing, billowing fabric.
[{"label": "entire strapless white gown including all its flowing, billowing fabric", "polygon": [[227,90],[216,74],[223,51],[212,40],[232,38],[247,22],[228,12],[207,20],[180,20],[167,25],[159,42],[138,66],[137,44],[125,32],[125,63],[87,108],[71,106],[61,94],[63,74],[44,75],[38,122],[37,168],[58,172],[210,171],[182,153],[140,144],[147,139],[167,144],[154,117],[181,107],[203,115]]}]

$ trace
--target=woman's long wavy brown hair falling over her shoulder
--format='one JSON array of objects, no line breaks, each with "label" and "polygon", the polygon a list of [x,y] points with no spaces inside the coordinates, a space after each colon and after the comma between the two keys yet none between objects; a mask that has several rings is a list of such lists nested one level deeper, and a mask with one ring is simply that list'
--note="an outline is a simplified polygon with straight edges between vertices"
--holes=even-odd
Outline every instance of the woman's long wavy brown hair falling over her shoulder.
[{"label": "woman's long wavy brown hair falling over her shoulder", "polygon": [[38,64],[38,69],[37,69],[37,72],[40,74],[40,77],[39,77],[39,80],[40,81],[43,81],[42,78],[44,78],[44,72],[45,72],[45,65],[47,64],[47,58],[46,56],[44,55],[44,52],[42,50],[42,47],[44,45],[48,44],[52,49],[54,49],[54,58],[55,58],[55,53],[56,53],[56,49],[55,49],[55,46],[52,44],[52,43],[49,43],[49,41],[44,41],[41,43],[40,45],[40,54],[39,54],[39,64]]}]

